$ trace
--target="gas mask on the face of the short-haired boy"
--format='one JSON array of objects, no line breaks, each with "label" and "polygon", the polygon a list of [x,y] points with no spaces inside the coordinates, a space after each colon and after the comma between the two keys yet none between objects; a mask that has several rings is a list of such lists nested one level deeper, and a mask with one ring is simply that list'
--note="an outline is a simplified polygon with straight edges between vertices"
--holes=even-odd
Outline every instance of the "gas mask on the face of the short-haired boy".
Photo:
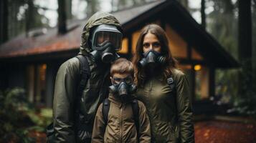
[{"label": "gas mask on the face of the short-haired boy", "polygon": [[113,77],[113,85],[109,87],[113,94],[117,94],[121,98],[127,97],[129,94],[133,94],[136,90],[136,85],[133,84],[133,78],[131,76],[124,79]]}]

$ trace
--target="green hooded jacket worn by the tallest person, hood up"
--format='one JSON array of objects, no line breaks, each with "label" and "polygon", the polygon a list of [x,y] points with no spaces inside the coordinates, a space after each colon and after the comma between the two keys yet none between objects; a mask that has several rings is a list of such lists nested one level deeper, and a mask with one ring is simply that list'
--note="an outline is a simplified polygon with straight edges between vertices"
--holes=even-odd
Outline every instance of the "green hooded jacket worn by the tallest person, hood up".
[{"label": "green hooded jacket worn by the tallest person, hood up", "polygon": [[[118,27],[120,23],[111,14],[97,12],[87,20],[82,29],[80,54],[87,58],[90,77],[82,92],[80,106],[77,106],[77,87],[80,84],[80,61],[73,57],[65,61],[57,72],[54,87],[54,135],[56,142],[88,142],[93,132],[93,121],[98,106],[108,97],[110,86],[110,64],[96,63],[90,54],[90,31],[94,26],[111,24]],[[80,109],[76,109],[79,107]],[[78,112],[78,113],[75,113]],[[78,115],[77,115],[78,114]]]}]

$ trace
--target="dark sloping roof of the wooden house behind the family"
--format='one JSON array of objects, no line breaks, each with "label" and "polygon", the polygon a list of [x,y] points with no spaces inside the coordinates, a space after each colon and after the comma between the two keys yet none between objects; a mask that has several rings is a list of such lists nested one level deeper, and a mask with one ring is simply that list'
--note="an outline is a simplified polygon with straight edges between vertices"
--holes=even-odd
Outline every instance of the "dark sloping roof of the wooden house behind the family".
[{"label": "dark sloping roof of the wooden house behind the family", "polygon": [[[125,34],[141,29],[146,21],[165,19],[167,24],[170,24],[199,54],[207,57],[206,60],[215,67],[238,66],[237,61],[175,0],[153,1],[142,6],[115,11],[113,14],[122,24]],[[85,22],[86,19],[70,21],[69,31],[63,35],[58,35],[55,27],[48,29],[46,34],[38,36],[26,36],[26,34],[16,36],[0,46],[0,60],[78,51]],[[30,34],[34,32],[36,35],[42,31],[44,30],[37,29]]]}]

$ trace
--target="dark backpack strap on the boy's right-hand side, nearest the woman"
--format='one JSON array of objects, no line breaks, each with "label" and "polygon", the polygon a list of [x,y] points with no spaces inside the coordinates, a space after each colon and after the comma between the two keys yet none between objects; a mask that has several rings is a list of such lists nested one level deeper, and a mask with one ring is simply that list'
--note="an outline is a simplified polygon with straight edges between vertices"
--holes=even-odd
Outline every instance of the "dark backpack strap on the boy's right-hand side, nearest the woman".
[{"label": "dark backpack strap on the boy's right-hand side, nearest the woman", "polygon": [[138,108],[138,100],[137,99],[133,99],[133,102],[131,104],[131,108],[133,109],[133,120],[134,120],[134,124],[136,126],[136,131],[137,131],[137,139],[140,139],[140,134],[139,134],[139,130],[140,130],[140,122],[139,122],[139,112],[140,109]]}]

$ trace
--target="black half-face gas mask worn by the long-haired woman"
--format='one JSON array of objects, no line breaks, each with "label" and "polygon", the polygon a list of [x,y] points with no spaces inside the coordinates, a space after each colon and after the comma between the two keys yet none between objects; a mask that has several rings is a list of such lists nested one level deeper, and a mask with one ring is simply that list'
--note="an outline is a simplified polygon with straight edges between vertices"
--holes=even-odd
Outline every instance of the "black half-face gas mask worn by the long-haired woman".
[{"label": "black half-face gas mask worn by the long-haired woman", "polygon": [[163,64],[166,62],[166,57],[161,56],[161,54],[158,51],[154,51],[153,49],[151,49],[146,53],[143,53],[143,59],[141,59],[141,61],[138,62],[141,67],[145,67],[149,64]]}]

